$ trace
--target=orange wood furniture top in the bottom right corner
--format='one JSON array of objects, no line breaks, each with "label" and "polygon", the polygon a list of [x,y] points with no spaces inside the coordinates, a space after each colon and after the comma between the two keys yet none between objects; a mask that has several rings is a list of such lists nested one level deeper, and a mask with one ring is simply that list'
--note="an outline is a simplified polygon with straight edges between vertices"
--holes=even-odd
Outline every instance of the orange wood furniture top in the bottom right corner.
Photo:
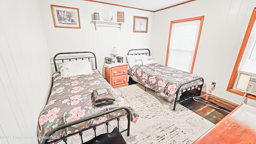
[{"label": "orange wood furniture top in the bottom right corner", "polygon": [[193,144],[255,144],[256,108],[241,104]]}]

